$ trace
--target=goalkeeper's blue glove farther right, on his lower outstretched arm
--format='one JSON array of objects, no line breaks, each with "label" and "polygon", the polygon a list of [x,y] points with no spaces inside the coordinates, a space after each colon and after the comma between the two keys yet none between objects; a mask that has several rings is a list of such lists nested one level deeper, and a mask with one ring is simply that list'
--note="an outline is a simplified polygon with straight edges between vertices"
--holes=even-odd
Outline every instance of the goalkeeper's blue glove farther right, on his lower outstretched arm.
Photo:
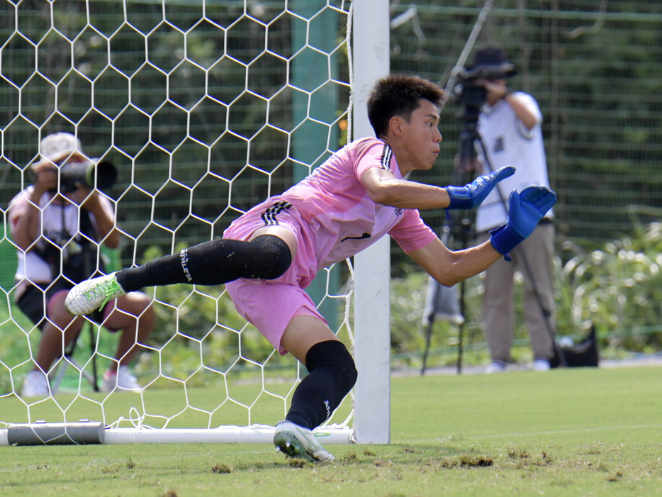
[{"label": "goalkeeper's blue glove farther right, on his lower outstretched arm", "polygon": [[556,194],[546,186],[529,186],[521,194],[513,190],[508,199],[508,220],[490,231],[494,249],[509,261],[508,252],[533,233],[539,220],[555,203]]}]

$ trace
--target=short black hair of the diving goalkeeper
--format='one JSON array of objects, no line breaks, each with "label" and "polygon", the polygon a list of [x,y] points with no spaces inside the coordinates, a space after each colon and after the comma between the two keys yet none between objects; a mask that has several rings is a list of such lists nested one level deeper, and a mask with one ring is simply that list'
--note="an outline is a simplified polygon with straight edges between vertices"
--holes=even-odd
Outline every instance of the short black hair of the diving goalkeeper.
[{"label": "short black hair of the diving goalkeeper", "polygon": [[377,138],[386,136],[393,116],[401,116],[409,122],[421,99],[439,107],[444,99],[444,90],[418,76],[391,74],[379,79],[368,99],[368,119]]}]

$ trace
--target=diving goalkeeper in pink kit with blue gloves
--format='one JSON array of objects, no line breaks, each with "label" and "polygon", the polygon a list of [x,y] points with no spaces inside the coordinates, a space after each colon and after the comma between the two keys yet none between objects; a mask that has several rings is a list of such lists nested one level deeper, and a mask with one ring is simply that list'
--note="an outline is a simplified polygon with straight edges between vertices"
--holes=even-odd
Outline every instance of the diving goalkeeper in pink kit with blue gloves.
[{"label": "diving goalkeeper in pink kit with blue gloves", "polygon": [[510,218],[490,240],[456,252],[445,247],[418,210],[476,207],[515,169],[503,167],[466,186],[403,179],[437,160],[443,97],[439,86],[420,77],[379,80],[368,100],[377,138],[349,143],[284,194],[240,216],[223,238],[78,284],[67,296],[67,309],[87,314],[145,286],[225,284],[237,311],[280,354],[289,352],[310,372],[297,386],[286,419],[276,425],[276,449],[288,457],[332,461],[312,430],[349,393],[357,370],[304,291],[315,274],[388,234],[434,279],[451,286],[510,252],[556,202],[544,186],[513,191]]}]

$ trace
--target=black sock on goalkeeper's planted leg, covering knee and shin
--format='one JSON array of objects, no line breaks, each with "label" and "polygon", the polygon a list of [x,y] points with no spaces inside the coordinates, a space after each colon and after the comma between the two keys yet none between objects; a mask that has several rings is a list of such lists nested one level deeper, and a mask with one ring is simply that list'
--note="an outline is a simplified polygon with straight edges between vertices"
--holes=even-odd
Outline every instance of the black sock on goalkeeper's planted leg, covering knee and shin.
[{"label": "black sock on goalkeeper's planted leg, covering knee and shin", "polygon": [[320,342],[305,355],[306,376],[296,387],[286,420],[313,430],[330,417],[357,382],[352,354],[338,340]]}]

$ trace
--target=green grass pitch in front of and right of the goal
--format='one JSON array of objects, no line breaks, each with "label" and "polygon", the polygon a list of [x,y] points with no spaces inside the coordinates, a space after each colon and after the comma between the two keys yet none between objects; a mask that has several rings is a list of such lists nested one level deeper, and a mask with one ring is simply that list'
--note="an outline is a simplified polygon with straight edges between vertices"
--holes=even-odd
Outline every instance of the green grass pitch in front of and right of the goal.
[{"label": "green grass pitch in front of and right of the goal", "polygon": [[[290,463],[271,445],[0,447],[0,493],[660,495],[661,371],[395,377],[391,444],[332,445],[328,465]],[[161,401],[167,410],[168,391]]]}]

